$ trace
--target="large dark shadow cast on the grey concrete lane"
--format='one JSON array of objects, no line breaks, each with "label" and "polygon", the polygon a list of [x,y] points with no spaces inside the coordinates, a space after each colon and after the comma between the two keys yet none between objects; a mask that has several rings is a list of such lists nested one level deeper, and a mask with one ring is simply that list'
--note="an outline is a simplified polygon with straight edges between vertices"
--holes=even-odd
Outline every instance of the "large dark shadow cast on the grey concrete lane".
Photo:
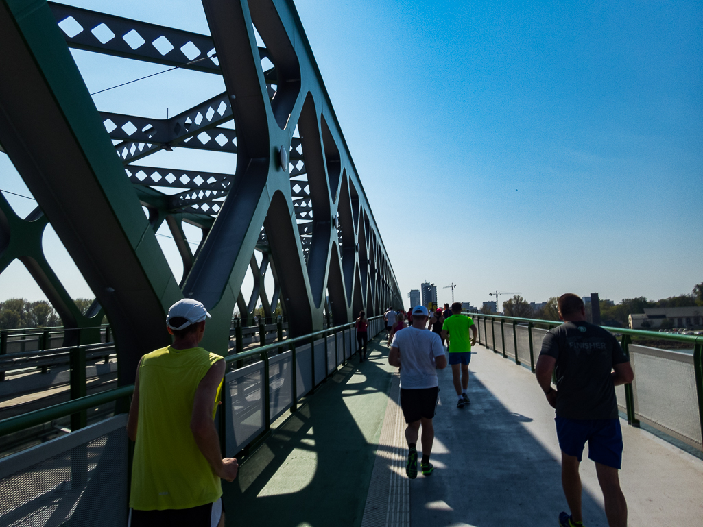
[{"label": "large dark shadow cast on the grey concrete lane", "polygon": [[[439,372],[432,454],[437,469],[411,482],[411,525],[557,525],[559,512],[567,510],[560,463],[524,428],[532,417],[507,410],[477,377],[472,372],[471,404],[460,409],[451,370]],[[586,492],[583,514],[588,527],[607,526]]]}]

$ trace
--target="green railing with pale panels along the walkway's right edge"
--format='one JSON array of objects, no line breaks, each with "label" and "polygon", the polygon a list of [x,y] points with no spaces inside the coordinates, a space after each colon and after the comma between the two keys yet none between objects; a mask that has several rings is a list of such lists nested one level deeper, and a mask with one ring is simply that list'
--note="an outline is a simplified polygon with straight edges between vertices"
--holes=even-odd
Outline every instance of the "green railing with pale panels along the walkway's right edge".
[{"label": "green railing with pale panels along the walkway's right edge", "polygon": [[[479,331],[479,342],[516,364],[534,365],[548,330],[562,324],[555,320],[515,318],[470,313]],[[619,337],[635,371],[632,384],[616,386],[618,406],[628,423],[640,421],[664,434],[703,450],[703,337],[654,331],[603,327]],[[645,344],[690,344],[693,353],[682,353]]]}]

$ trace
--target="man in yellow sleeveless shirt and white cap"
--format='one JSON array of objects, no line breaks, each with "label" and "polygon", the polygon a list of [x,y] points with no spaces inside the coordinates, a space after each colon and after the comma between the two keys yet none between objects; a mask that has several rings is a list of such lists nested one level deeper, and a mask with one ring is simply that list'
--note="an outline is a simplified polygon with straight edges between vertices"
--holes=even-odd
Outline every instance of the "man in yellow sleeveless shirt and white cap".
[{"label": "man in yellow sleeveless shirt and white cap", "polygon": [[222,458],[214,415],[223,358],[198,347],[210,314],[193,299],[169,309],[174,343],[139,361],[127,422],[134,446],[129,527],[224,526],[221,479],[238,464]]}]

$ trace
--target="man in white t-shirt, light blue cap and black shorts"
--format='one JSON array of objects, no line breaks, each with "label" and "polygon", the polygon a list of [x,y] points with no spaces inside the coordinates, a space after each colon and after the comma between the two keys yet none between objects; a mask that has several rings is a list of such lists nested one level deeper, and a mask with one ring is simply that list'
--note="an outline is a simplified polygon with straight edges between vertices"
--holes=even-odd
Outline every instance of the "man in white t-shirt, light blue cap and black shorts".
[{"label": "man in white t-shirt, light blue cap and black shorts", "polygon": [[437,405],[437,370],[446,367],[444,346],[437,333],[425,329],[427,308],[413,308],[413,325],[396,332],[388,353],[388,363],[400,367],[400,405],[405,422],[405,438],[408,441],[408,463],[405,473],[408,478],[418,476],[418,435],[423,425],[423,459],[420,468],[425,476],[432,474],[430,453],[434,441],[432,418]]}]

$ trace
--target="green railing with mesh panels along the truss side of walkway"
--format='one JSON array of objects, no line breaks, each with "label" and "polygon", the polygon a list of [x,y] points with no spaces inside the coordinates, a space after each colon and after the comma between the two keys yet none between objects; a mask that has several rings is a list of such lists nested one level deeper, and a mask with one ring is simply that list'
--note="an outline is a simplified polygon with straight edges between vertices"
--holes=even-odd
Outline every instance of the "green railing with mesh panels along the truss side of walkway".
[{"label": "green railing with mesh panels along the truss side of walkway", "polygon": [[[369,318],[370,338],[383,328],[382,316]],[[226,356],[223,404],[215,421],[224,455],[247,453],[263,441],[271,423],[288,410],[295,412],[300,398],[314,392],[354,353],[356,331],[349,323]],[[259,360],[231,371],[247,358]],[[49,517],[52,525],[127,525],[125,424],[133,391],[134,385],[120,386],[0,421],[2,437],[72,417],[69,434],[0,459],[0,525]],[[85,426],[85,412],[112,402],[112,417]]]}]

